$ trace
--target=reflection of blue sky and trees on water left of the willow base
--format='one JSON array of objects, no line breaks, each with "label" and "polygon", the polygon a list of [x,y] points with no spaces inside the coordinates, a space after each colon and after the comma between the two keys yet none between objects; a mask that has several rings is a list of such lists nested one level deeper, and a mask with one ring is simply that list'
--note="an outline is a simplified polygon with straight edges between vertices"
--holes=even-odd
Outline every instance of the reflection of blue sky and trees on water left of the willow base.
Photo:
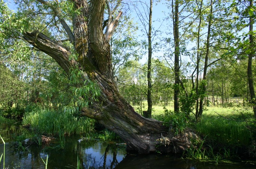
[{"label": "reflection of blue sky and trees on water left of the willow base", "polygon": [[[31,145],[26,151],[17,151],[7,144],[5,147],[5,167],[9,168],[44,168],[48,155],[48,168],[76,168],[77,157],[81,168],[114,168],[125,157],[125,148],[115,144],[87,141],[78,144],[79,137],[66,137],[64,149],[56,147],[57,143],[49,146]],[[72,142],[74,141],[74,142]],[[53,148],[55,147],[55,148]],[[0,153],[4,146],[0,145]],[[2,153],[1,153],[2,154]],[[3,168],[3,163],[0,164]]]}]

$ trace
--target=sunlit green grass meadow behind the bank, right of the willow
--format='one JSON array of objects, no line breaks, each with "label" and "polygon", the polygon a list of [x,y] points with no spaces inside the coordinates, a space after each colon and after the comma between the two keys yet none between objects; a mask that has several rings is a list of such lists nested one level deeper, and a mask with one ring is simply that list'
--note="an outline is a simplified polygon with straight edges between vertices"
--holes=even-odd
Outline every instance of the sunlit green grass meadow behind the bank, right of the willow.
[{"label": "sunlit green grass meadow behind the bank, right of the willow", "polygon": [[[166,108],[173,111],[173,105]],[[188,127],[193,128],[201,138],[204,138],[205,143],[211,144],[212,147],[226,147],[234,150],[237,147],[248,149],[252,145],[256,137],[252,109],[221,106],[210,106],[206,109],[199,122],[196,123],[193,114],[190,115],[190,122],[188,122]],[[163,106],[153,106],[153,117],[163,114]]]}]

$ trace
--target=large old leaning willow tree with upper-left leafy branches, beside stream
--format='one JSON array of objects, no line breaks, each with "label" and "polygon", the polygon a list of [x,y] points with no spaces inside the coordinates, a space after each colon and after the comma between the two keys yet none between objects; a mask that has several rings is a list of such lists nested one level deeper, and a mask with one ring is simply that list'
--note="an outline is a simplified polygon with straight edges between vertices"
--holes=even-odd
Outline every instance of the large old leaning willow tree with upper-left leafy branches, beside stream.
[{"label": "large old leaning willow tree with upper-left leafy branches, beside stream", "polygon": [[[167,136],[168,128],[160,121],[144,118],[136,113],[119,94],[113,79],[109,42],[122,15],[122,11],[116,12],[121,0],[117,1],[112,9],[108,0],[68,1],[72,7],[71,11],[75,11],[70,16],[65,15],[65,10],[59,4],[64,1],[31,0],[20,3],[24,2],[30,7],[27,11],[18,11],[15,14],[16,18],[19,18],[17,17],[19,15],[26,17],[26,12],[31,13],[33,10],[35,10],[33,17],[41,16],[42,18],[42,15],[51,15],[53,23],[55,22],[52,25],[64,30],[62,34],[66,35],[72,46],[71,48],[65,47],[62,41],[56,40],[56,36],[63,36],[61,32],[45,31],[51,23],[50,18],[46,26],[41,29],[48,32],[47,35],[43,34],[39,28],[31,30],[33,26],[28,25],[27,28],[20,29],[18,39],[28,42],[32,50],[51,56],[65,70],[69,78],[71,78],[71,70],[79,70],[79,81],[74,82],[77,87],[81,88],[91,83],[98,86],[100,95],[88,106],[80,108],[81,115],[96,119],[108,129],[116,132],[127,143],[127,150],[139,153],[156,151],[156,144],[160,144],[157,139],[161,137],[161,134]],[[66,6],[66,11],[71,7]],[[38,10],[39,8],[42,11]],[[45,9],[47,12],[44,11]],[[104,21],[105,11],[108,12],[108,19]],[[17,19],[12,22],[17,22]],[[3,30],[8,29],[7,27],[2,27],[2,31],[7,31]],[[174,138],[173,135],[169,137],[171,137],[169,141],[173,144],[162,145],[165,152],[177,152],[189,146],[185,137],[182,137],[183,139]],[[167,140],[167,143],[169,141]],[[184,143],[187,145],[184,146]]]}]

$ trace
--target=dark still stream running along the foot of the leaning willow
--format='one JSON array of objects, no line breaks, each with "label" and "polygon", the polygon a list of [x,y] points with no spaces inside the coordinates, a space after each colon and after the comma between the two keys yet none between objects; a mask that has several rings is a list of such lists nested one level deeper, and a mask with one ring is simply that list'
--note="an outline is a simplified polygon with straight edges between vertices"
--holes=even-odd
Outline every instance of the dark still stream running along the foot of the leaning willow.
[{"label": "dark still stream running along the foot of the leaning willow", "polygon": [[[103,169],[240,169],[256,168],[255,161],[232,161],[232,164],[219,164],[199,162],[197,160],[184,160],[176,156],[159,154],[132,155],[126,154],[125,147],[116,145],[116,142],[100,142],[99,140],[85,140],[78,143],[81,136],[65,137],[65,146],[61,149],[60,140],[56,138],[50,144],[30,145],[25,151],[13,146],[13,141],[25,137],[34,136],[33,133],[22,129],[19,125],[0,124],[0,134],[5,142],[5,167],[9,168],[45,168],[44,161],[48,155],[47,168],[77,168],[77,158],[80,168],[103,168]],[[11,142],[12,141],[12,142]],[[0,156],[4,152],[4,145],[0,144]],[[3,158],[0,162],[3,168]]]}]

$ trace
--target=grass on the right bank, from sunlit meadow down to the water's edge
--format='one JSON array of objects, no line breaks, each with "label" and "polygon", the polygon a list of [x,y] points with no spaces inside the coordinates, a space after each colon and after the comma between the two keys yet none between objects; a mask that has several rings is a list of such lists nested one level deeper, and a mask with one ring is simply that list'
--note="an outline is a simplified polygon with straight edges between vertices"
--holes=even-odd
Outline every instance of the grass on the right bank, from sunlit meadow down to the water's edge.
[{"label": "grass on the right bank, from sunlit meadow down to the water's edge", "polygon": [[[155,109],[152,113],[153,118],[161,121],[168,119],[166,116],[170,118],[171,114],[166,114],[163,107],[153,106],[153,109]],[[170,121],[173,120],[175,120],[175,116],[171,116]],[[215,152],[221,150],[221,153],[224,154],[223,157],[226,157],[226,154],[237,153],[237,151],[249,151],[249,153],[250,151],[252,153],[256,151],[253,145],[253,140],[256,139],[256,125],[251,109],[246,109],[246,107],[207,107],[199,122],[196,122],[194,115],[191,114],[186,123],[201,137],[205,137],[204,147],[210,147]],[[250,150],[250,147],[252,147],[252,150]],[[205,152],[201,149],[192,148],[188,153],[191,156],[205,158],[205,156],[209,157],[212,152],[213,150]],[[220,159],[218,153],[211,154],[211,156],[216,161]]]}]

